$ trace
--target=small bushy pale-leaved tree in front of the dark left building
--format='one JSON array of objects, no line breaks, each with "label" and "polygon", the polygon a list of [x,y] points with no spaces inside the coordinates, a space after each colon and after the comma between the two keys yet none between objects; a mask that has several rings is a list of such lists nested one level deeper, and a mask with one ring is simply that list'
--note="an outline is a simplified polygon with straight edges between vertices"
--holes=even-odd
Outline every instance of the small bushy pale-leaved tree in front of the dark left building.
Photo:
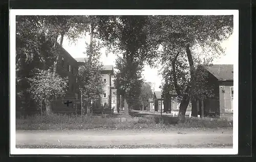
[{"label": "small bushy pale-leaved tree in front of the dark left building", "polygon": [[30,82],[30,91],[32,98],[37,102],[45,101],[46,113],[51,113],[51,104],[54,99],[65,95],[67,91],[67,78],[62,79],[58,75],[54,75],[53,71],[50,69],[45,70],[35,70],[34,76],[28,78]]}]

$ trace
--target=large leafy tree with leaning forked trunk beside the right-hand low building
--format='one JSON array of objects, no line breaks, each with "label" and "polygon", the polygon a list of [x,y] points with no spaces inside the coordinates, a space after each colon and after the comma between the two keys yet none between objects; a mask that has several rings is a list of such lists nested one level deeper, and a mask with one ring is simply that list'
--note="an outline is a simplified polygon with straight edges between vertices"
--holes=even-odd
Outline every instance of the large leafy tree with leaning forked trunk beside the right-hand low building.
[{"label": "large leafy tree with leaning forked trunk beside the right-hand low building", "polygon": [[[152,16],[148,18],[147,41],[161,44],[161,55],[154,53],[145,59],[160,58],[162,76],[169,89],[180,98],[179,119],[185,118],[189,100],[210,96],[205,88],[205,71],[214,57],[223,54],[220,43],[232,33],[232,16]],[[157,44],[154,44],[155,46]],[[201,48],[202,55],[196,52]],[[191,51],[192,50],[192,51]],[[202,61],[203,58],[203,61]],[[199,73],[200,72],[200,73]],[[199,82],[199,80],[203,82]],[[207,89],[207,90],[205,90]],[[204,95],[202,95],[204,94]]]}]

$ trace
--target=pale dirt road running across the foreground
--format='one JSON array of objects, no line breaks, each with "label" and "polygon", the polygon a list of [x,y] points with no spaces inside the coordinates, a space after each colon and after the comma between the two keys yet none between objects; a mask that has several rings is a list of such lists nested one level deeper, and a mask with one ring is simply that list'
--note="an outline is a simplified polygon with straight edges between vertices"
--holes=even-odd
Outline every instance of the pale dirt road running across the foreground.
[{"label": "pale dirt road running across the foreground", "polygon": [[202,145],[232,144],[232,130],[86,130],[86,131],[16,131],[16,145]]}]

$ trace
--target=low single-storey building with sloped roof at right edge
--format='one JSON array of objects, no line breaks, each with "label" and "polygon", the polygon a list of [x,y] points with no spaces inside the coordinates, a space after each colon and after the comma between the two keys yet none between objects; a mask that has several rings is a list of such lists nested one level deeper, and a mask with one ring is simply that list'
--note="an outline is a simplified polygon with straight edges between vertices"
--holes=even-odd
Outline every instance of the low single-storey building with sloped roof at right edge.
[{"label": "low single-storey building with sloped roof at right edge", "polygon": [[[214,87],[214,97],[193,102],[192,115],[230,115],[233,113],[233,65],[214,64],[207,67],[208,83]],[[203,111],[202,111],[203,103]]]}]

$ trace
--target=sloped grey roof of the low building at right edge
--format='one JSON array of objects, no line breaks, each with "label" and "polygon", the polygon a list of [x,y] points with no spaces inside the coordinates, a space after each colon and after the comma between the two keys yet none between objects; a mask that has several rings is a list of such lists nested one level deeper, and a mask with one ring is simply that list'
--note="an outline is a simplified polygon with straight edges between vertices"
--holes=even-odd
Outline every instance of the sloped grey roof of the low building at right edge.
[{"label": "sloped grey roof of the low building at right edge", "polygon": [[214,64],[208,67],[208,71],[218,80],[233,80],[232,64]]}]

